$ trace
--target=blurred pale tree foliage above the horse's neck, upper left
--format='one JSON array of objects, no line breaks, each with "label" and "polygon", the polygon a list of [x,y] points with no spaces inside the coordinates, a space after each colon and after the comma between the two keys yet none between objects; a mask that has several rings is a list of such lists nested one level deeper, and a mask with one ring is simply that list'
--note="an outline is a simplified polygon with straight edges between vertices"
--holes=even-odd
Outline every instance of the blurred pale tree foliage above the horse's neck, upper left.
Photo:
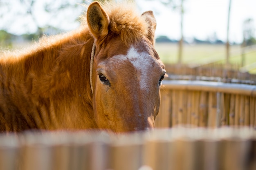
[{"label": "blurred pale tree foliage above the horse's neck, upper left", "polygon": [[[84,0],[0,0],[0,29],[15,33],[13,30],[17,30],[17,23],[22,22],[19,26],[19,30],[24,29],[22,33],[37,32],[38,36],[43,35],[49,26],[65,30],[63,23],[76,22],[76,16],[83,11],[79,4],[83,2]],[[34,29],[26,30],[28,27]]]}]

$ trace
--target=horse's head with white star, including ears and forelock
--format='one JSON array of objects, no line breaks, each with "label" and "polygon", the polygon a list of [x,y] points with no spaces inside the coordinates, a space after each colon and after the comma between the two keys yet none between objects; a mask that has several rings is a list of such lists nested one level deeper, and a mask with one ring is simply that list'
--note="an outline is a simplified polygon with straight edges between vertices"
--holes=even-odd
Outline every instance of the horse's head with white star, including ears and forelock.
[{"label": "horse's head with white star, including ears and forelock", "polygon": [[95,44],[90,71],[94,117],[99,128],[114,132],[153,128],[166,74],[154,49],[155,17],[152,11],[119,10],[108,12],[94,2],[87,11]]}]

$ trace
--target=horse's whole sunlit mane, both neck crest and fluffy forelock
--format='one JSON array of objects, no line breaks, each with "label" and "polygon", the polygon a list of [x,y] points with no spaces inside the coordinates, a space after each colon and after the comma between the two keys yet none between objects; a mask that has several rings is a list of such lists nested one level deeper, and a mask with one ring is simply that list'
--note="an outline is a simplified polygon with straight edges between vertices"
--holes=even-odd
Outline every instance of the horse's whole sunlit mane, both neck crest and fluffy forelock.
[{"label": "horse's whole sunlit mane, both neck crest and fluffy forelock", "polygon": [[[127,45],[136,42],[148,34],[148,23],[144,16],[141,16],[136,10],[137,7],[135,3],[129,1],[111,1],[101,3],[101,6],[110,18],[110,32],[118,35],[124,44]],[[87,24],[86,13],[81,15],[80,21],[80,28],[74,31],[59,35],[43,36],[38,42],[30,44],[24,49],[0,52],[0,62],[20,62],[24,56],[33,55],[33,53],[50,48],[51,46],[61,48],[61,46],[63,47],[63,44],[70,44],[70,42],[71,44],[76,44],[77,42],[83,44],[83,40],[92,38]]]}]

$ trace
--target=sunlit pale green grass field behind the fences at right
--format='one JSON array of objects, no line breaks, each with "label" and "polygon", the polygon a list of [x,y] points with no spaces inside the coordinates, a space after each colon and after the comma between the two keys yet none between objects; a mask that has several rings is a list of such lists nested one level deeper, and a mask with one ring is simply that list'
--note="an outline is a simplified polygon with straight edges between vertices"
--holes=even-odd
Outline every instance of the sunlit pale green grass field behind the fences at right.
[{"label": "sunlit pale green grass field behind the fences at right", "polygon": [[[155,44],[157,53],[161,60],[168,63],[176,63],[178,56],[178,44]],[[225,63],[226,49],[225,45],[211,44],[184,44],[182,62],[184,64],[206,64],[211,62]],[[230,46],[230,62],[232,64],[241,64],[240,45]],[[256,49],[247,50],[245,54],[245,66],[256,63]],[[256,64],[254,64],[256,65]],[[249,73],[256,74],[256,66],[250,67]]]}]

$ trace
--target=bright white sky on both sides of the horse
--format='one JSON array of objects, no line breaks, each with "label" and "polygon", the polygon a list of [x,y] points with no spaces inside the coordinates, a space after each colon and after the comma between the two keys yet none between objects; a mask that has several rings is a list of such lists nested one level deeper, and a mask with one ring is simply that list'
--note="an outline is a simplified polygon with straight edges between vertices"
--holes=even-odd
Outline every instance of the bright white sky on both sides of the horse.
[{"label": "bright white sky on both sides of the horse", "polygon": [[[59,1],[54,2],[57,5]],[[180,0],[175,1],[180,2]],[[22,6],[18,3],[19,0],[13,0],[13,2],[15,3],[13,3],[11,9],[6,9],[6,16],[0,19],[0,29],[4,28],[8,22],[7,31],[10,33],[22,34],[35,31],[37,27],[32,24],[33,20],[31,18],[11,14],[11,11],[16,11]],[[52,15],[43,12],[42,2],[42,0],[38,0],[35,5],[36,20],[39,25],[43,26],[49,23],[61,27],[65,31],[79,26],[78,22],[74,23],[73,21],[81,15],[84,7],[75,11],[66,9],[62,11],[61,15],[52,17]],[[70,2],[75,3],[72,0]],[[166,35],[171,39],[180,39],[180,12],[178,9],[174,10],[171,7],[164,6],[160,0],[135,0],[135,2],[141,13],[148,10],[154,12],[157,20],[156,36]],[[218,39],[226,41],[228,4],[229,0],[184,0],[184,38],[188,41],[194,37],[206,40],[216,34]],[[243,22],[248,18],[254,20],[253,24],[256,28],[256,0],[232,0],[229,27],[230,42],[242,42]]]}]

